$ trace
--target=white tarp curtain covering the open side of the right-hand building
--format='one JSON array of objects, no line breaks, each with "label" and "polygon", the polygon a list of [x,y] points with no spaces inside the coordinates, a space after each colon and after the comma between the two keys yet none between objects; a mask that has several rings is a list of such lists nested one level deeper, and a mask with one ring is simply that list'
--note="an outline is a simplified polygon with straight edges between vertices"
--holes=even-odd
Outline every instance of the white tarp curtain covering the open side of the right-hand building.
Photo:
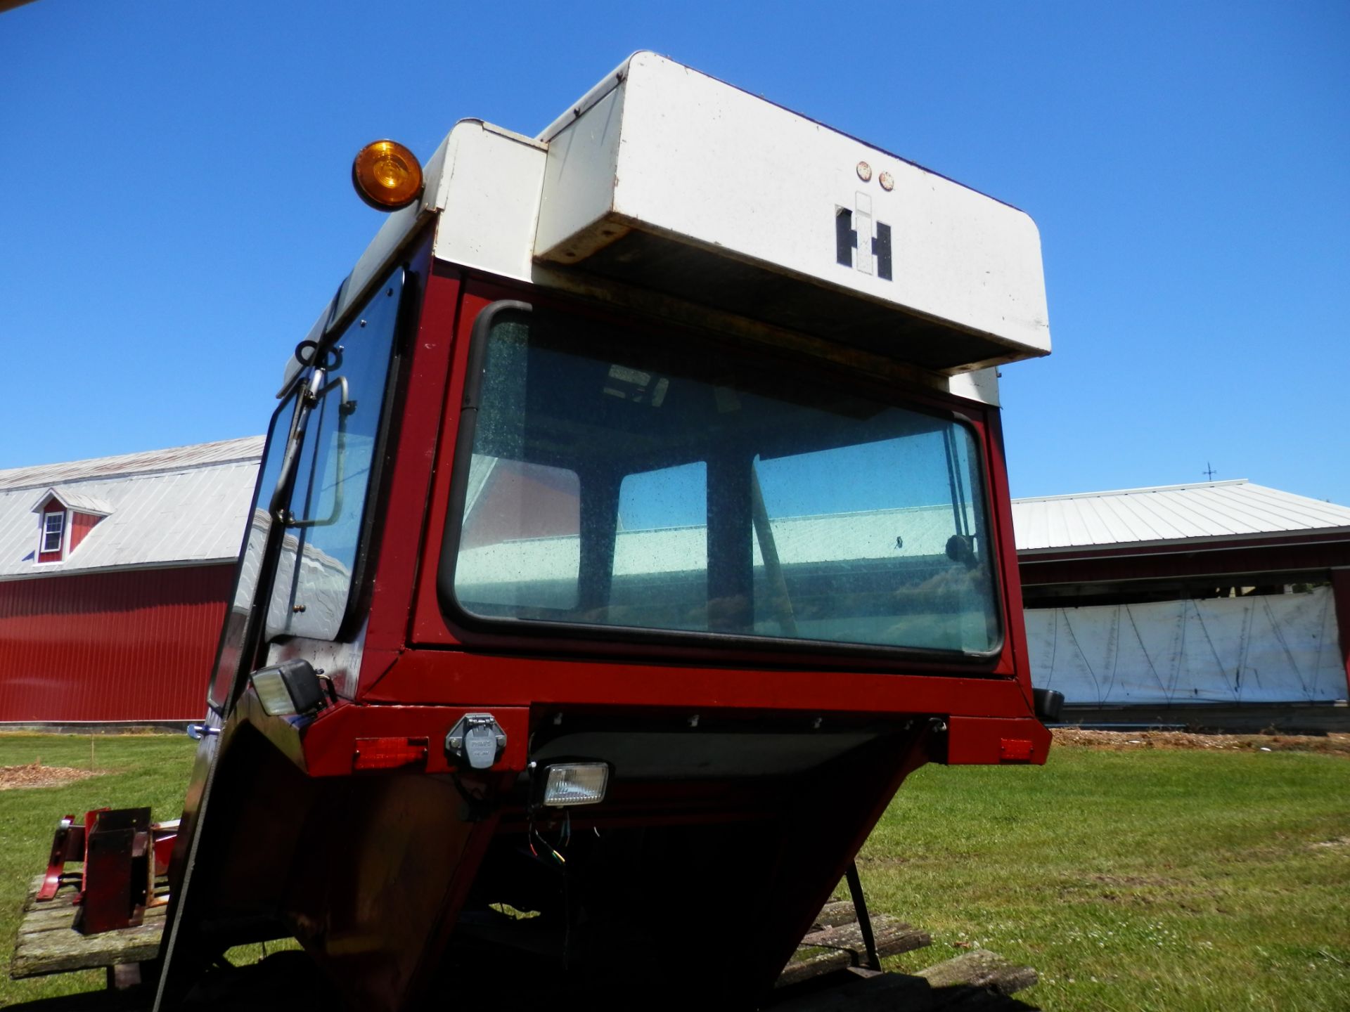
[{"label": "white tarp curtain covering the open side of the right-hand building", "polygon": [[1149,605],[1029,609],[1031,681],[1069,704],[1346,698],[1330,587]]}]

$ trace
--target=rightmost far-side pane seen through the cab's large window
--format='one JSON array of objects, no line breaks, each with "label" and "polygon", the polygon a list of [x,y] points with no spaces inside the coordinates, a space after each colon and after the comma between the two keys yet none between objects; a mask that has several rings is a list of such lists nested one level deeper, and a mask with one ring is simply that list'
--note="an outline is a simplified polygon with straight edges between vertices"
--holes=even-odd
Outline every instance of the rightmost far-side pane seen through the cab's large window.
[{"label": "rightmost far-side pane seen through the cab's large window", "polygon": [[755,630],[988,650],[999,626],[975,460],[954,422],[756,460],[772,538],[755,545]]}]

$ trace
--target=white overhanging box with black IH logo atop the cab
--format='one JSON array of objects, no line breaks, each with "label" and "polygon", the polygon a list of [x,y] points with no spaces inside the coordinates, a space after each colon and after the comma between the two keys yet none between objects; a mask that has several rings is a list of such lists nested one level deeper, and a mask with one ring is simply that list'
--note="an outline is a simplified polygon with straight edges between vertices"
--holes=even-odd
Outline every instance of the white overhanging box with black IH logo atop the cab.
[{"label": "white overhanging box with black IH logo atop the cab", "polygon": [[[640,53],[624,84],[559,139],[568,150],[555,162],[568,173],[549,177],[541,259],[580,262],[595,248],[586,228],[608,216],[992,335],[1025,355],[1050,348],[1040,235],[1025,213],[805,116]],[[860,225],[849,264],[836,262],[840,209]],[[872,251],[878,224],[891,229],[891,279]]]}]

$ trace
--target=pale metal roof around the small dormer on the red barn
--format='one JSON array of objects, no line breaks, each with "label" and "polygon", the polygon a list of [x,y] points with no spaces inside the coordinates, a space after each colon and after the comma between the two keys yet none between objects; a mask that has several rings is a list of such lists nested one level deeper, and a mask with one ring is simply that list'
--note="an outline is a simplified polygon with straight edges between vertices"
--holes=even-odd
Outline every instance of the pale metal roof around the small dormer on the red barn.
[{"label": "pale metal roof around the small dormer on the red barn", "polygon": [[[235,559],[262,447],[250,436],[0,471],[0,580]],[[63,561],[38,564],[32,509],[49,491],[107,515]]]}]

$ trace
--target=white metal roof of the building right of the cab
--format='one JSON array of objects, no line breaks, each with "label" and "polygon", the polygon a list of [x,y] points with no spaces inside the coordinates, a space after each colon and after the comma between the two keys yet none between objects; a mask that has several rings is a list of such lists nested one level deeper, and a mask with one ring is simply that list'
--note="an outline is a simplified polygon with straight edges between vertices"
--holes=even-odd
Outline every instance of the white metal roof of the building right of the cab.
[{"label": "white metal roof of the building right of the cab", "polygon": [[1014,499],[1013,526],[1018,551],[1037,552],[1350,529],[1350,509],[1239,478]]}]

